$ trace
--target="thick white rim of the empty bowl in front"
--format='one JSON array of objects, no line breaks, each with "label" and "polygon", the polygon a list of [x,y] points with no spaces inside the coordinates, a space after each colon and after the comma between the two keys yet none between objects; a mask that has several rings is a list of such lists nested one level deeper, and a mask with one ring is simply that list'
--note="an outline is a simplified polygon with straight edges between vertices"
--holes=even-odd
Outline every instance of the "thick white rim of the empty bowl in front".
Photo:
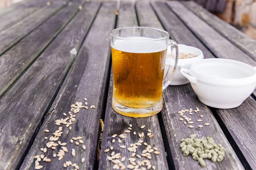
[{"label": "thick white rim of the empty bowl in front", "polygon": [[[201,62],[210,62],[212,60],[219,60],[219,61],[224,60],[224,61],[234,62],[239,65],[245,65],[248,68],[249,67],[252,68],[252,70],[254,71],[254,74],[250,77],[245,77],[245,78],[228,79],[228,78],[218,78],[218,77],[211,77],[209,75],[203,75],[193,70],[195,65],[198,65]],[[256,67],[252,67],[244,62],[239,62],[232,59],[210,58],[210,59],[199,60],[198,62],[195,62],[191,65],[189,69],[189,75],[192,77],[195,77],[198,82],[208,84],[208,85],[216,85],[216,86],[235,87],[235,86],[243,86],[243,85],[256,83]]]}]

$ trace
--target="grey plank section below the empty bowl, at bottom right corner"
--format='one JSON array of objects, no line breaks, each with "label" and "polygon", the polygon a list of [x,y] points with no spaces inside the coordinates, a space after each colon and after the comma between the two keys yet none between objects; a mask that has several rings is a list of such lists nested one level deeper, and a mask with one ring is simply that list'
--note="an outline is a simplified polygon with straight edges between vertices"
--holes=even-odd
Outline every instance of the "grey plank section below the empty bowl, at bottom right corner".
[{"label": "grey plank section below the empty bowl, at bottom right corner", "polygon": [[234,109],[217,109],[251,169],[256,169],[256,101],[250,96]]}]

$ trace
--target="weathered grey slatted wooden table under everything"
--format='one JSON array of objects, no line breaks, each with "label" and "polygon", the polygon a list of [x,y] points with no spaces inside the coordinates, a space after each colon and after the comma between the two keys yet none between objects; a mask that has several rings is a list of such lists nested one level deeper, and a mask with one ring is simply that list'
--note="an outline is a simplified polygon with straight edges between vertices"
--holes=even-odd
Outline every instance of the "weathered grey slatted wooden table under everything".
[{"label": "weathered grey slatted wooden table under everything", "polygon": [[[128,165],[131,152],[127,147],[139,140],[137,135],[124,132],[129,124],[132,133],[146,134],[151,129],[154,136],[141,139],[160,151],[159,155],[151,154],[151,164],[157,170],[256,169],[256,91],[238,108],[215,109],[202,104],[190,84],[169,86],[163,92],[161,113],[138,119],[122,116],[111,108],[109,34],[125,26],[165,29],[178,43],[200,48],[205,58],[235,59],[252,66],[256,66],[256,40],[193,2],[121,1],[118,6],[116,1],[52,0],[47,6],[47,1],[25,0],[0,12],[0,169],[35,169],[34,156],[38,154],[51,159],[40,161],[45,170],[65,169],[65,161],[76,163],[79,170],[112,169],[114,164],[106,159],[111,151],[104,152],[111,146],[115,153],[126,156],[124,164]],[[71,54],[72,49],[77,54]],[[89,109],[72,113],[76,116],[72,129],[61,124],[62,134],[57,131],[61,136],[55,140],[67,143],[68,152],[62,160],[53,157],[60,145],[41,151],[60,127],[55,120],[69,117],[63,113],[68,114],[76,102],[85,106],[84,98]],[[90,109],[91,105],[95,109]],[[195,122],[190,129],[178,120],[178,111],[195,107],[201,111],[194,113],[193,119],[204,115],[201,119],[209,126],[198,128]],[[100,119],[104,121],[103,136]],[[140,129],[141,125],[145,128]],[[221,143],[227,149],[224,161],[207,160],[207,167],[201,168],[191,156],[184,157],[180,139],[193,133],[211,135]],[[113,134],[127,137],[121,144],[117,137],[112,143]],[[77,136],[82,137],[85,150],[83,144],[70,143]],[[126,149],[119,147],[122,144]],[[72,149],[76,156],[72,156]],[[144,149],[139,146],[137,154]]]}]

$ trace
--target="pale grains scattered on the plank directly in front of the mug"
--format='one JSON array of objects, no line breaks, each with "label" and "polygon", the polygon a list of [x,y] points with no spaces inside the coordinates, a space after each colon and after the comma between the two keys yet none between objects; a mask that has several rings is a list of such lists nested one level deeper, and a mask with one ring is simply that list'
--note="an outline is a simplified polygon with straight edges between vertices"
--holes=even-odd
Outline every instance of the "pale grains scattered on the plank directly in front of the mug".
[{"label": "pale grains scattered on the plank directly in front of the mug", "polygon": [[[142,125],[140,127],[140,129],[144,129],[145,125]],[[121,156],[121,153],[115,153],[113,150],[113,146],[111,146],[110,148],[107,148],[104,150],[105,153],[110,153],[111,154],[109,156],[107,156],[107,160],[112,161],[114,163],[113,165],[113,169],[116,170],[125,170],[125,168],[127,167],[128,169],[131,170],[149,170],[149,169],[153,169],[156,170],[156,167],[154,165],[151,164],[150,160],[152,159],[151,154],[155,154],[155,155],[159,155],[160,152],[158,151],[157,147],[151,147],[150,144],[147,144],[146,142],[143,142],[142,139],[144,136],[148,137],[148,138],[152,138],[154,135],[152,134],[152,131],[150,129],[148,129],[145,133],[147,133],[146,135],[144,134],[144,132],[141,133],[136,133],[134,131],[134,133],[131,133],[132,130],[132,125],[130,124],[128,127],[128,130],[125,130],[125,133],[128,134],[133,134],[133,135],[138,135],[139,140],[137,142],[135,142],[134,144],[128,144],[128,147],[126,147],[125,145],[121,144],[122,143],[122,139],[125,139],[127,136],[125,134],[120,134],[119,136],[117,134],[114,134],[112,136],[112,143],[114,143],[116,141],[116,139],[118,140],[118,143],[120,144],[119,147],[122,149],[127,149],[129,152],[131,152],[131,157],[128,158],[128,161],[130,162],[130,164],[128,164],[127,166],[125,166],[124,161],[126,160],[125,156]],[[145,149],[141,152],[141,153],[137,153],[137,148],[138,147],[145,147]],[[122,158],[121,158],[122,157]],[[121,158],[121,161],[119,160]],[[138,159],[138,160],[137,160]],[[136,162],[137,160],[137,162]]]}]

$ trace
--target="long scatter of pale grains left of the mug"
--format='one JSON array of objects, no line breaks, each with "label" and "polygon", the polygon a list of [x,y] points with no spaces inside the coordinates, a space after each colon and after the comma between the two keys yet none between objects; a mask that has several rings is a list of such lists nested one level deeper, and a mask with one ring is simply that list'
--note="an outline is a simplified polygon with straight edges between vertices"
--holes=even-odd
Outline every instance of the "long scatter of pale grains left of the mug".
[{"label": "long scatter of pale grains left of the mug", "polygon": [[[58,160],[62,160],[65,156],[65,153],[68,153],[68,150],[67,150],[67,147],[65,147],[67,145],[67,143],[65,142],[61,142],[59,139],[63,133],[62,131],[62,128],[66,126],[66,128],[69,128],[69,130],[72,130],[72,127],[70,125],[72,125],[74,122],[76,122],[76,113],[79,113],[79,111],[84,108],[84,109],[89,109],[87,107],[88,103],[87,103],[87,99],[84,98],[85,100],[85,106],[83,106],[83,103],[82,102],[76,102],[75,104],[71,105],[71,109],[70,111],[67,113],[63,113],[62,115],[63,116],[67,116],[66,118],[61,118],[61,119],[58,119],[58,120],[55,120],[55,125],[57,126],[60,126],[58,127],[58,130],[55,130],[54,133],[52,133],[53,136],[50,136],[49,137],[49,142],[47,142],[46,144],[46,147],[41,147],[40,150],[43,152],[43,153],[47,153],[47,148],[48,149],[52,149],[52,150],[58,150],[58,153],[56,154],[55,152],[53,153],[53,158],[55,157],[58,157]],[[96,107],[94,105],[91,105],[90,106],[91,109],[95,109]],[[73,113],[73,114],[72,114]],[[61,126],[63,125],[63,126]],[[50,130],[48,129],[45,129],[44,130],[45,133],[49,133]],[[44,139],[48,139],[48,137],[44,137]],[[75,145],[81,145],[81,148],[83,150],[86,149],[86,146],[84,145],[84,141],[82,140],[82,137],[81,136],[78,136],[78,137],[73,137],[72,139],[70,139],[70,143],[73,144],[73,142],[75,142]],[[72,152],[71,152],[71,155],[72,156],[76,156],[76,150],[75,149],[72,149]],[[47,158],[47,156],[44,156],[44,154],[41,154],[41,155],[36,155],[34,157],[36,160],[35,160],[35,169],[36,170],[40,170],[43,168],[43,165],[40,165],[40,161],[45,161],[45,162],[50,162],[51,159],[50,158]],[[81,163],[84,163],[85,161],[85,158],[82,158],[81,159]],[[79,165],[77,165],[76,163],[72,163],[72,161],[65,161],[64,164],[63,164],[63,167],[74,167],[75,170],[78,170],[79,169]]]}]

